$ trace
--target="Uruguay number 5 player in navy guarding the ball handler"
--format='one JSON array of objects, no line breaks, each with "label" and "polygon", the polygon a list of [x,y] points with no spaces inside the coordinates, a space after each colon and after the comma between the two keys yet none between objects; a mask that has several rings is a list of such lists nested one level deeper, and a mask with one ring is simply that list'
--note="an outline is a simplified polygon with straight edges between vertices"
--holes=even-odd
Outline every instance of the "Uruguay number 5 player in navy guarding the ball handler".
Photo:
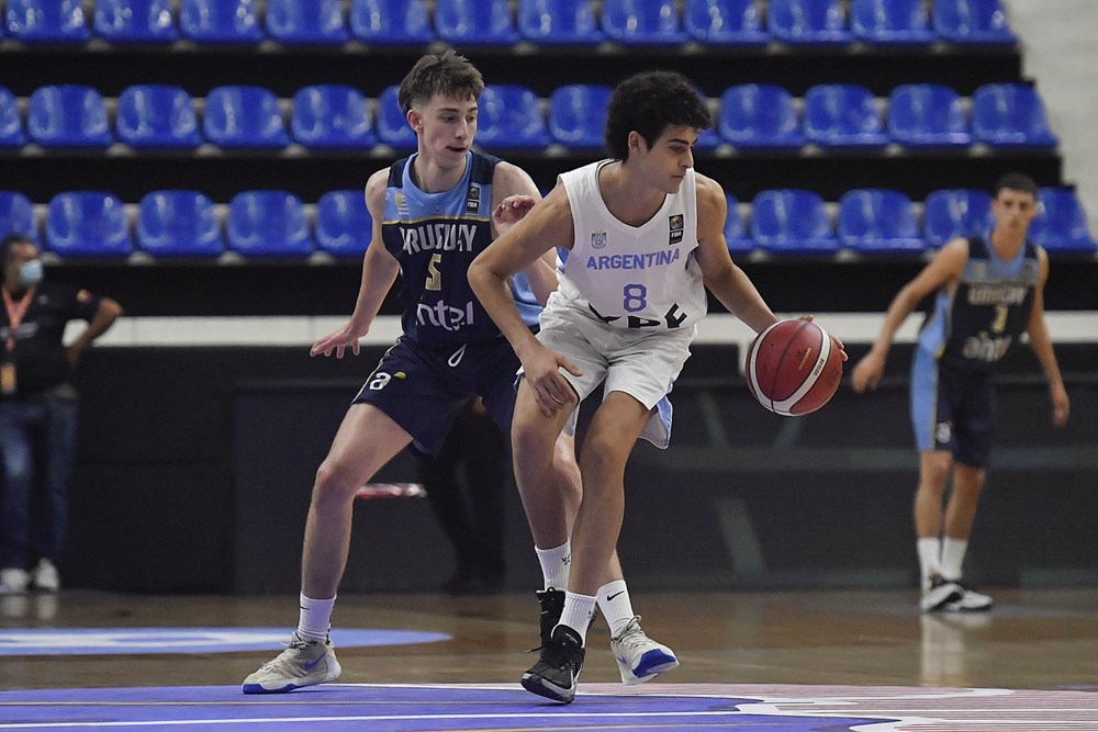
[{"label": "Uruguay number 5 player in navy guarding the ball handler", "polygon": [[[347,563],[355,494],[363,483],[413,441],[418,450],[437,453],[458,413],[477,396],[501,429],[511,430],[519,362],[477,301],[466,271],[540,196],[524,170],[471,149],[483,87],[480,72],[452,50],[424,56],[401,83],[399,100],[417,151],[367,182],[373,235],[355,312],[311,353],[341,358],[349,348],[358,354],[359,339],[397,273],[403,335],[354,399],[316,473],[298,630],[284,652],[245,679],[245,694],[291,691],[339,676],[328,629]],[[509,284],[523,322],[536,327],[539,302],[557,284],[552,268],[531,262]],[[554,448],[556,480],[546,486],[552,495],[538,496],[539,513],[529,519],[536,538],[562,533],[558,543],[536,542],[546,581],[538,593],[542,624],[556,623],[569,583],[568,530],[581,493],[574,454],[570,440]],[[616,581],[624,590],[616,559],[604,565],[604,582]],[[623,601],[628,604],[627,594],[606,609],[625,607]],[[631,616],[630,607],[623,611]]]}]

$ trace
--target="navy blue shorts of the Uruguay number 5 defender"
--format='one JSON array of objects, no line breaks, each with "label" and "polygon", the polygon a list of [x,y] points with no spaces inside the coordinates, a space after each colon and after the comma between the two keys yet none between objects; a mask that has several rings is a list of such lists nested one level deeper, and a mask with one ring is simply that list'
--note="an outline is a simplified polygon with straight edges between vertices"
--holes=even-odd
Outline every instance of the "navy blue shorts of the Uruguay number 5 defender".
[{"label": "navy blue shorts of the Uruguay number 5 defender", "polygon": [[401,338],[385,351],[356,404],[372,404],[404,428],[421,452],[437,454],[446,433],[474,396],[511,435],[515,380],[520,363],[506,338],[442,351]]}]

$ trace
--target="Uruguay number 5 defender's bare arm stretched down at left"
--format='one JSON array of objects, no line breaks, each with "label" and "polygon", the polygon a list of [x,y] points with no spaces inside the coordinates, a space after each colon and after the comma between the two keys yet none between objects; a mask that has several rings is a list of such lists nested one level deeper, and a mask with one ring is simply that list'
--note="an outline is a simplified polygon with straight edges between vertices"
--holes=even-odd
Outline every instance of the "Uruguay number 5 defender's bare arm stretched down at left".
[{"label": "Uruguay number 5 defender's bare arm stretched down at left", "polygon": [[381,240],[381,222],[385,214],[385,187],[389,180],[389,170],[379,170],[370,176],[366,183],[366,207],[370,211],[373,219],[373,230],[370,236],[370,246],[362,257],[362,283],[358,290],[358,299],[355,302],[355,312],[350,319],[338,330],[330,333],[315,344],[310,349],[310,356],[332,356],[335,352],[337,359],[341,359],[344,351],[350,347],[355,356],[359,353],[359,339],[370,330],[370,324],[377,317],[381,304],[389,294],[389,290],[396,281],[400,272],[400,262],[389,254],[384,243]]}]

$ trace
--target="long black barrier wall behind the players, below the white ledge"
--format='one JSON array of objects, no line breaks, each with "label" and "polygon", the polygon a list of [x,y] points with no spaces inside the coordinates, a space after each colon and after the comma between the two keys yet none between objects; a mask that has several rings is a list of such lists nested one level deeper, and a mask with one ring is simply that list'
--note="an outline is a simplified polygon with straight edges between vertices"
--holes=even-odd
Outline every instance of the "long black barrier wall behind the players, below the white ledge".
[{"label": "long black barrier wall behind the players, below the white ledge", "polygon": [[[844,384],[798,418],[751,401],[735,348],[694,351],[673,394],[671,448],[642,443],[628,468],[620,549],[630,585],[914,587],[904,348],[876,393]],[[67,585],[296,592],[313,474],[381,352],[337,361],[305,348],[93,349],[80,379]],[[1001,379],[967,567],[977,583],[1098,578],[1098,349],[1058,353],[1066,429],[1050,426],[1028,351]],[[411,458],[378,480],[414,480]],[[508,585],[528,589],[539,575],[514,492],[507,538]],[[426,502],[359,502],[344,592],[432,589],[451,568]]]}]

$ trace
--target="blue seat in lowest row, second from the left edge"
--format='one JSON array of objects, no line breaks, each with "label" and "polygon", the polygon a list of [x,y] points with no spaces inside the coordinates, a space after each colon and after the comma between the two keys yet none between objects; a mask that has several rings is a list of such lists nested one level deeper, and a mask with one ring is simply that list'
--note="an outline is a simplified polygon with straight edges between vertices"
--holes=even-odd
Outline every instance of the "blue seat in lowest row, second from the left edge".
[{"label": "blue seat in lowest row, second from the left edge", "polygon": [[113,193],[71,191],[49,201],[46,248],[61,257],[128,257],[133,239]]}]

